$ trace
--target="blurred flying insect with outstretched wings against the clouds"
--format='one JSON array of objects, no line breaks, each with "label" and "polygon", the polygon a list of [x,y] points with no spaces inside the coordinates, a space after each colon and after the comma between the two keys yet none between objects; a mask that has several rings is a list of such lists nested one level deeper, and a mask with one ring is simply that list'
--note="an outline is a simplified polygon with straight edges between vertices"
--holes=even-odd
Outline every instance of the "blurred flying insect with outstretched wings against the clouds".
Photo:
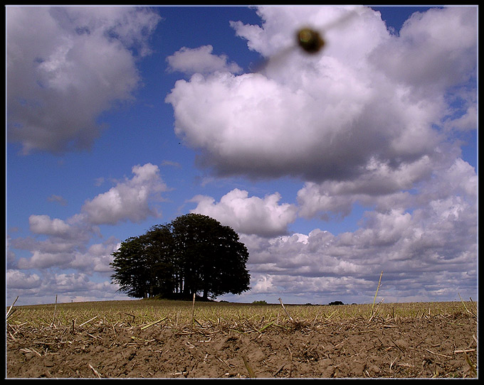
[{"label": "blurred flying insect with outstretched wings against the clouds", "polygon": [[332,28],[336,27],[343,27],[348,21],[350,21],[354,16],[357,16],[356,11],[348,11],[340,18],[337,18],[335,21],[328,23],[326,26],[322,28],[312,28],[312,27],[304,27],[300,28],[295,33],[295,44],[289,45],[286,48],[283,48],[275,55],[271,56],[270,58],[266,59],[262,65],[258,66],[257,72],[260,72],[265,67],[270,64],[278,63],[280,60],[283,60],[286,55],[296,49],[302,49],[304,53],[312,54],[320,53],[323,48],[327,45],[327,41],[324,38],[324,33],[329,31]]}]

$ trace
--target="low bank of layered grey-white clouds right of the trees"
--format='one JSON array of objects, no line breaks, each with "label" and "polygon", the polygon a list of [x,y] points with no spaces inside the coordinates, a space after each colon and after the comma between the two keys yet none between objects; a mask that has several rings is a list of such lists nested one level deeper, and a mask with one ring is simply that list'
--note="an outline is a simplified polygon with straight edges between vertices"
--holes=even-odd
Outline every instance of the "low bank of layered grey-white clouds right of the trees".
[{"label": "low bank of layered grey-white clouds right of the trees", "polygon": [[[384,271],[380,295],[386,301],[411,301],[417,292],[438,300],[452,290],[454,296],[473,293],[476,213],[475,205],[449,197],[414,212],[367,212],[354,232],[315,229],[270,239],[243,235],[241,241],[250,254],[251,284],[265,295],[369,302]],[[270,281],[261,278],[268,275]]]}]

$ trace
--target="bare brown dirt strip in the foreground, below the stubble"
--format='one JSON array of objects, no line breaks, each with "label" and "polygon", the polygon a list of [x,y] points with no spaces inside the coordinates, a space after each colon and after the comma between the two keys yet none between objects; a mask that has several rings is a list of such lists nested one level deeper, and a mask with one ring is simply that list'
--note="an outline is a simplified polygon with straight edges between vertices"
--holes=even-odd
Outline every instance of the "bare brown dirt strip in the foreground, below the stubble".
[{"label": "bare brown dirt strip in the foreground, below the stubble", "polygon": [[160,322],[72,330],[7,327],[7,378],[476,377],[477,322],[465,313],[270,325],[262,332]]}]

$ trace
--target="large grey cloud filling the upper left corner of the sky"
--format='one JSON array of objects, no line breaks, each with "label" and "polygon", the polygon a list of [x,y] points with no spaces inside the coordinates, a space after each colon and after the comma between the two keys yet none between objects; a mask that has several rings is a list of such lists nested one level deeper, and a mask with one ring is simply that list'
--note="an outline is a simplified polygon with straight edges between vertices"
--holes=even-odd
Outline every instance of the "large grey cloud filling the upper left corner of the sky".
[{"label": "large grey cloud filling the upper left corner of the sky", "polygon": [[130,7],[7,7],[9,141],[23,153],[90,147],[100,113],[132,97],[159,19]]}]

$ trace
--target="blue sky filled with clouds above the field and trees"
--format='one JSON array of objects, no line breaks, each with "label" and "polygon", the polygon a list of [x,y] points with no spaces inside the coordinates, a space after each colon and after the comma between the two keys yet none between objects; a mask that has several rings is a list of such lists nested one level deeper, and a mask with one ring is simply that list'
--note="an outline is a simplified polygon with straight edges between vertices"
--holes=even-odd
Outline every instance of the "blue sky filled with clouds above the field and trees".
[{"label": "blue sky filled with clouds above the field and trees", "polygon": [[112,253],[190,212],[249,251],[217,300],[477,300],[477,21],[6,6],[6,305],[132,299]]}]

